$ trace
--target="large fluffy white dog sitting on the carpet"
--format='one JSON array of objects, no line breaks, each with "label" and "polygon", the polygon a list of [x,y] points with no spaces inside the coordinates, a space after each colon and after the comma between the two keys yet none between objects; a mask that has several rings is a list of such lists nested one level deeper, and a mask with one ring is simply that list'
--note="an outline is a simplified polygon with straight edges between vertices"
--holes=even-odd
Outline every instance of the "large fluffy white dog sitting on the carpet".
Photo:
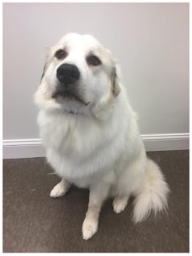
[{"label": "large fluffy white dog sitting on the carpet", "polygon": [[167,183],[145,154],[109,49],[90,35],[61,38],[50,49],[35,101],[48,163],[62,177],[50,196],[65,195],[71,183],[90,190],[84,239],[97,232],[109,196],[116,213],[135,196],[136,223],[167,208]]}]

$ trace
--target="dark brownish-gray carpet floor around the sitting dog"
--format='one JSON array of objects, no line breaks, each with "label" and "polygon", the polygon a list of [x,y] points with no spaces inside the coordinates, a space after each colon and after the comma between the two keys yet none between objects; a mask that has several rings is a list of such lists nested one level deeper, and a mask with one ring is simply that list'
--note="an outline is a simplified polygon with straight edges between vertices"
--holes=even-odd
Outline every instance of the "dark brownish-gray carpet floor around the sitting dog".
[{"label": "dark brownish-gray carpet floor around the sitting dog", "polygon": [[172,193],[169,211],[141,224],[131,221],[133,199],[124,212],[106,201],[99,232],[82,240],[88,190],[72,187],[63,198],[50,190],[59,177],[44,158],[3,160],[4,253],[187,253],[189,252],[189,151],[151,152]]}]

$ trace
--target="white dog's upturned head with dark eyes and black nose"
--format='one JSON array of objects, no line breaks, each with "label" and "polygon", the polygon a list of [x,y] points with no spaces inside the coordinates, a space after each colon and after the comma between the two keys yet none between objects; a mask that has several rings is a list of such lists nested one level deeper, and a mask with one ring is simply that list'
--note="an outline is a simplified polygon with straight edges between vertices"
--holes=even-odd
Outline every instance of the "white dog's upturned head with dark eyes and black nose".
[{"label": "white dog's upturned head with dark eyes and black nose", "polygon": [[116,62],[90,35],[67,34],[50,49],[36,93],[41,108],[90,114],[120,92]]}]

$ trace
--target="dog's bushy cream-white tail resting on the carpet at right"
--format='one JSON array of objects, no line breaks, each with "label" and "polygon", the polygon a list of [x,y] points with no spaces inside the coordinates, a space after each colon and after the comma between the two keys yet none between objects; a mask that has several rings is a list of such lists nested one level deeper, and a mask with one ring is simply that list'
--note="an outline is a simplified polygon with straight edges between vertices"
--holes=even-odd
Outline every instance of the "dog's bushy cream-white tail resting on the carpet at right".
[{"label": "dog's bushy cream-white tail resting on the carpet at right", "polygon": [[168,185],[161,169],[148,159],[144,184],[139,189],[134,201],[133,221],[138,223],[150,215],[150,212],[167,210]]}]

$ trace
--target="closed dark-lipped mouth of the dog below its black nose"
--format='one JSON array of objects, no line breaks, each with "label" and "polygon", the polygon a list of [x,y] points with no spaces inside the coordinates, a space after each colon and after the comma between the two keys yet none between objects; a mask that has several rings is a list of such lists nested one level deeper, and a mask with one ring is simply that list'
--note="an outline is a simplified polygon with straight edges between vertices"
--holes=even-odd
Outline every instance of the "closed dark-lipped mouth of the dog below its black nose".
[{"label": "closed dark-lipped mouth of the dog below its black nose", "polygon": [[75,100],[76,102],[80,102],[85,106],[88,106],[88,104],[90,103],[90,102],[84,102],[82,100],[81,96],[78,96],[76,94],[76,92],[71,91],[71,90],[55,90],[52,97],[54,99],[57,99],[58,97],[60,97],[62,99],[68,99],[68,100],[71,100],[71,101]]}]

